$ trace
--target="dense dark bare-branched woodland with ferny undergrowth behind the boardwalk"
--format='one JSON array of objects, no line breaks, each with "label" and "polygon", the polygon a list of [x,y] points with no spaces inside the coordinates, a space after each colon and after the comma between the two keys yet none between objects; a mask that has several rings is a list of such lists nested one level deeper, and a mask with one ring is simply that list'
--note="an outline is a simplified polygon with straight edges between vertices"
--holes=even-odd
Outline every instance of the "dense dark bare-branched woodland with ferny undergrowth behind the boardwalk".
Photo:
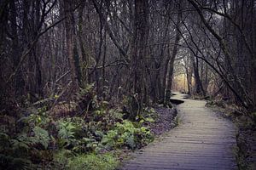
[{"label": "dense dark bare-branched woodland with ferny undergrowth behind the boardwalk", "polygon": [[256,1],[1,0],[0,80],[1,167],[111,169],[173,90],[254,115]]}]

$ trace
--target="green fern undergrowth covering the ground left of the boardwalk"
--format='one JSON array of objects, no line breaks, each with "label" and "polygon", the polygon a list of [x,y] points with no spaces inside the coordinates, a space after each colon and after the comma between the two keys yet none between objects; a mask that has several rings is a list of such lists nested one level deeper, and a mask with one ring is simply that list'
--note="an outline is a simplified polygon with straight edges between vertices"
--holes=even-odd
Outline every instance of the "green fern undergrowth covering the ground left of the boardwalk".
[{"label": "green fern undergrowth covering the ground left of the boardwalk", "polygon": [[70,102],[46,105],[44,99],[15,117],[0,113],[0,167],[114,169],[119,161],[113,150],[136,150],[154,140],[148,127],[154,110],[143,108],[131,121],[127,98],[113,105],[88,85]]}]

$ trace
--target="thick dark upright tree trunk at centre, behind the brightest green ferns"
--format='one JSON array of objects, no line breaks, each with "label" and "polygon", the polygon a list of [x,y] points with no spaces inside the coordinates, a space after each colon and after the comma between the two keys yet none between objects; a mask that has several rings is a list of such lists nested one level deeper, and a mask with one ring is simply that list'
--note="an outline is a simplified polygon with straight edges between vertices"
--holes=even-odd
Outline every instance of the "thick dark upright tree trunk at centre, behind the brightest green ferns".
[{"label": "thick dark upright tree trunk at centre, behind the brightest green ferns", "polygon": [[[131,94],[134,94],[132,99],[132,110],[135,114],[140,114],[142,111],[143,101],[147,100],[145,96],[146,84],[146,43],[148,39],[148,0],[135,1],[135,20],[134,32],[131,44]],[[131,118],[135,118],[132,115]]]}]

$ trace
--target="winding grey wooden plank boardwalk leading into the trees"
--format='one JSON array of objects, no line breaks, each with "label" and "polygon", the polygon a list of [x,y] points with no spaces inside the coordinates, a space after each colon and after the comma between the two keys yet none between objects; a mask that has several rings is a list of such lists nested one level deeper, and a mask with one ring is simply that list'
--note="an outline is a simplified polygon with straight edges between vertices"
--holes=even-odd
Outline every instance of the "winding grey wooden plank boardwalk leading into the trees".
[{"label": "winding grey wooden plank boardwalk leading into the trees", "polygon": [[232,122],[205,107],[205,101],[183,99],[183,94],[172,99],[184,101],[177,106],[180,125],[134,153],[122,169],[237,169]]}]

